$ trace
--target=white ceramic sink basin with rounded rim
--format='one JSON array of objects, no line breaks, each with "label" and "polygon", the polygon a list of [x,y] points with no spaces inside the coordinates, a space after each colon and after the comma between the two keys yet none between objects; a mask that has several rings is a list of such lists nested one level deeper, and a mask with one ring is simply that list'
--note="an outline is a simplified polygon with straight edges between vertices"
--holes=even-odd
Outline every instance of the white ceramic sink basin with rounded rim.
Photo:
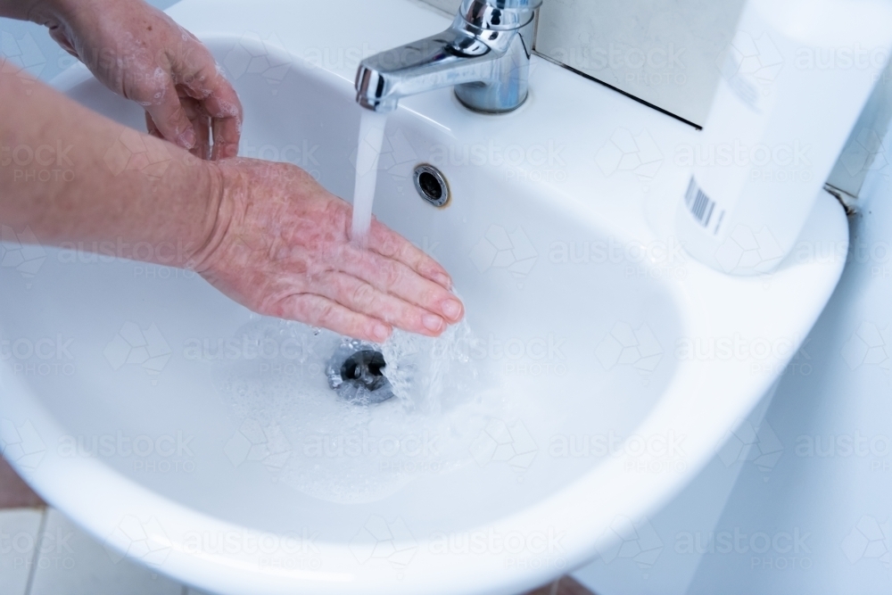
[{"label": "white ceramic sink basin with rounded rim", "polygon": [[[448,23],[409,0],[171,12],[234,80],[242,153],[348,198],[360,53]],[[56,84],[142,126],[86,70]],[[610,552],[777,379],[843,260],[800,251],[772,277],[727,277],[687,259],[644,213],[648,189],[656,219],[673,212],[658,196],[697,133],[535,56],[531,87],[512,114],[442,90],[388,123],[376,216],[450,270],[479,341],[440,409],[340,404],[321,369],[334,335],[260,319],[182,271],[47,248],[34,275],[0,268],[4,456],[112,557],[219,593],[516,593]],[[627,133],[642,153],[620,160]],[[484,162],[462,163],[466,147]],[[448,178],[448,207],[417,195],[421,162]],[[845,253],[829,195],[803,242]],[[245,351],[258,336],[275,357]],[[708,351],[724,342],[727,357]],[[647,564],[663,547],[639,543],[614,553]]]}]

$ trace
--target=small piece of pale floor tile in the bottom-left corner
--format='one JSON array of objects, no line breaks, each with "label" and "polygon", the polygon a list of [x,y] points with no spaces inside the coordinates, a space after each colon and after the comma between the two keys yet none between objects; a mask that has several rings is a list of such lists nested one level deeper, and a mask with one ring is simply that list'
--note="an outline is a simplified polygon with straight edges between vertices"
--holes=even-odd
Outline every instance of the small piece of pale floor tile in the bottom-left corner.
[{"label": "small piece of pale floor tile in the bottom-left corner", "polygon": [[0,592],[25,595],[43,509],[0,510]]}]

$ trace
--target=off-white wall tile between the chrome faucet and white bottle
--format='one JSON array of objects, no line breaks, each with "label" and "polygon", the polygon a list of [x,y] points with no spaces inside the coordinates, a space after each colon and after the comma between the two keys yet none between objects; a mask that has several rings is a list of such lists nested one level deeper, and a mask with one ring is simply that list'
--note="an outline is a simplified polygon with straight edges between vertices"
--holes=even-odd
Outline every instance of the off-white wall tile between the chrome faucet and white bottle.
[{"label": "off-white wall tile between the chrome faucet and white bottle", "polygon": [[[698,125],[743,0],[546,0],[536,50]],[[672,58],[669,58],[672,56]]]}]

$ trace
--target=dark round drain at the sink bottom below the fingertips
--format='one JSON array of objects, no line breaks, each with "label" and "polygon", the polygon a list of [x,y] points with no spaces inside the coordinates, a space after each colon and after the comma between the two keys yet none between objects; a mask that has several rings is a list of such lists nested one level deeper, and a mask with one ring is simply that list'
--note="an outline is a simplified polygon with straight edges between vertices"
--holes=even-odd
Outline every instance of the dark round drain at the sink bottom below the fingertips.
[{"label": "dark round drain at the sink bottom below the fingertips", "polygon": [[351,403],[374,404],[392,398],[390,381],[384,376],[387,363],[372,343],[344,341],[326,366],[328,385]]}]

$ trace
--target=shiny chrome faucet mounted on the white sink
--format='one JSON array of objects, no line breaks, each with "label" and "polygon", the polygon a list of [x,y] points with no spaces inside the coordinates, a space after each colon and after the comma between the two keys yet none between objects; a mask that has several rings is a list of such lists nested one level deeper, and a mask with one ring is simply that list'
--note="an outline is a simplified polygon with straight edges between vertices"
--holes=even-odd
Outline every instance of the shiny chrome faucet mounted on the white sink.
[{"label": "shiny chrome faucet mounted on the white sink", "polygon": [[533,21],[542,0],[463,0],[438,35],[366,58],[356,73],[356,101],[392,112],[402,97],[455,87],[475,112],[518,108],[528,95]]}]

